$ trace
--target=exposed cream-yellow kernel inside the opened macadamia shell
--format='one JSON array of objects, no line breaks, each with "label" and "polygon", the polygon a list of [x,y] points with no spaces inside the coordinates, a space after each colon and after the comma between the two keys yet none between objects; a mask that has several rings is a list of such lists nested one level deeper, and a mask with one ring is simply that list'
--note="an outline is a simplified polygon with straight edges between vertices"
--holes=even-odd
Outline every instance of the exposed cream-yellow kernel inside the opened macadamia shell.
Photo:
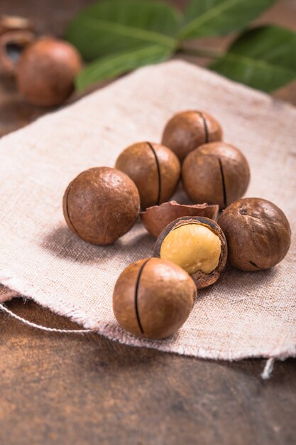
[{"label": "exposed cream-yellow kernel inside the opened macadamia shell", "polygon": [[201,270],[210,274],[218,266],[221,241],[202,224],[186,224],[175,228],[165,237],[160,258],[168,259],[192,275]]}]

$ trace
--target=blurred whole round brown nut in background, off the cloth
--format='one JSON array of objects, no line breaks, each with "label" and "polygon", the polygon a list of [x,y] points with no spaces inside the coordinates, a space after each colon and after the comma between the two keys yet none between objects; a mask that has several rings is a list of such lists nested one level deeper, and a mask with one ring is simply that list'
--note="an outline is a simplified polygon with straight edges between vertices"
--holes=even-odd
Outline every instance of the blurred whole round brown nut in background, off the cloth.
[{"label": "blurred whole round brown nut in background, off the cloth", "polygon": [[72,94],[81,68],[80,54],[70,43],[40,38],[23,51],[18,62],[18,90],[31,104],[61,104]]}]

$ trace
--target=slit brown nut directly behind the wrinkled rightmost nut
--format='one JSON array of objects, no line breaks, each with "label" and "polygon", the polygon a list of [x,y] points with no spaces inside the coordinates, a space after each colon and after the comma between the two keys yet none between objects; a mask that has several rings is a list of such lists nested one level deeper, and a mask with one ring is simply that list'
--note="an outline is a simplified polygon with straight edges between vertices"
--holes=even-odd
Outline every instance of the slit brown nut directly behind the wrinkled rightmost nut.
[{"label": "slit brown nut directly behind the wrinkled rightmost nut", "polygon": [[246,193],[249,182],[248,161],[239,149],[225,142],[199,146],[182,163],[182,183],[195,203],[226,208]]}]

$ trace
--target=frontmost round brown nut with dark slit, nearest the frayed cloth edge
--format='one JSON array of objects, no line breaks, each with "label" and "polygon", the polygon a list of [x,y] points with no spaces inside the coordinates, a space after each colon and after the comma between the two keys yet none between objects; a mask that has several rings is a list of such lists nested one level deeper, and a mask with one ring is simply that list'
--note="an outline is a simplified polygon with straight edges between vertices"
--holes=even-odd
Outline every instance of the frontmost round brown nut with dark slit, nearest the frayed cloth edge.
[{"label": "frontmost round brown nut with dark slit, nearest the frayed cloth edge", "polygon": [[124,269],[114,287],[119,324],[136,336],[171,336],[187,320],[197,290],[181,267],[159,258],[140,259]]}]

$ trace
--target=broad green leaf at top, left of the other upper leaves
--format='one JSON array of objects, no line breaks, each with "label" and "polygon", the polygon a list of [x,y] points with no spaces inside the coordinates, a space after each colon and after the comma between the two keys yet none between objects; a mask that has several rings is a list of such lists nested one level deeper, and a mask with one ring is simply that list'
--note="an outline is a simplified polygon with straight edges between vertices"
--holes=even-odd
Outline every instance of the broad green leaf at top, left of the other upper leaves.
[{"label": "broad green leaf at top, left of the other upper leaves", "polygon": [[66,38],[85,60],[158,44],[176,46],[180,15],[168,4],[148,0],[103,0],[70,22]]}]

